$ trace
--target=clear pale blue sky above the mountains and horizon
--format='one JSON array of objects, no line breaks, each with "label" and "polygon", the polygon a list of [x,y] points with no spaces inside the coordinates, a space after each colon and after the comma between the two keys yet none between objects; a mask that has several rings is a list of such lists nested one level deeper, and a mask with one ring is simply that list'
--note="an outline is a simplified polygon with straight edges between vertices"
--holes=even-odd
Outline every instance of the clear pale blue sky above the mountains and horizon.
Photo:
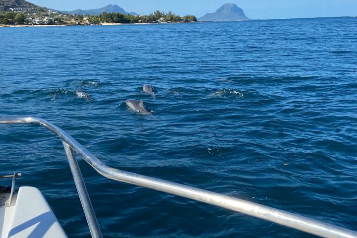
[{"label": "clear pale blue sky above the mountains and horizon", "polygon": [[224,3],[236,3],[247,17],[280,19],[328,16],[356,16],[357,0],[30,0],[58,10],[95,9],[117,4],[125,11],[148,14],[157,9],[197,17],[215,12]]}]

